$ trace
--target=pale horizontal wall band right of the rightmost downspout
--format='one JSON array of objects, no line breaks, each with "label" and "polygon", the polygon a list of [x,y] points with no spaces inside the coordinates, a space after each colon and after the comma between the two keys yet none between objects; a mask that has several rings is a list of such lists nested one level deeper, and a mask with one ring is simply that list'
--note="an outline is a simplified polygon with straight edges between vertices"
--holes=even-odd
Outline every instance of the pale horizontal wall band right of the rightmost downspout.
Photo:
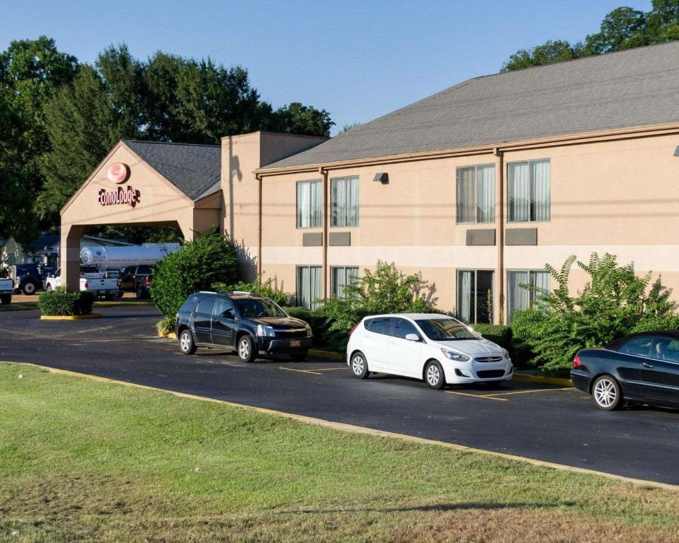
[{"label": "pale horizontal wall band right of the rightmost downspout", "polygon": [[505,247],[506,269],[544,269],[545,264],[561,267],[570,255],[588,262],[590,255],[610,252],[618,264],[634,263],[637,271],[679,271],[679,245],[537,245]]}]

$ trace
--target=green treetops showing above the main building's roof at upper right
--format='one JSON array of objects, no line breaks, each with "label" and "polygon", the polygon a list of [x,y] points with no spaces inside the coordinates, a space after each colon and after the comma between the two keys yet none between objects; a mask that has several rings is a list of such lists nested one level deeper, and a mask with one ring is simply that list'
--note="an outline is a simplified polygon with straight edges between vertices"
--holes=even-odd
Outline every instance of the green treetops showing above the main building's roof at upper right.
[{"label": "green treetops showing above the main building's roof at upper right", "polygon": [[549,40],[530,50],[521,49],[509,57],[501,71],[544,66],[672,40],[679,40],[679,0],[654,0],[649,12],[626,6],[615,8],[603,18],[599,32],[588,35],[584,43],[571,45],[564,40]]}]

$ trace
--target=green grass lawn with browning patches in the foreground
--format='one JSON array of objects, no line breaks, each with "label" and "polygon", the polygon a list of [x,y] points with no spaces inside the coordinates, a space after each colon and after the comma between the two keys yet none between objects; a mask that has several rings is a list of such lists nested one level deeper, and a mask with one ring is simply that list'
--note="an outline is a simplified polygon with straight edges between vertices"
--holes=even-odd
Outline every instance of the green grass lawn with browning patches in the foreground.
[{"label": "green grass lawn with browning patches in the foreground", "polygon": [[0,363],[0,541],[677,540],[677,491]]}]

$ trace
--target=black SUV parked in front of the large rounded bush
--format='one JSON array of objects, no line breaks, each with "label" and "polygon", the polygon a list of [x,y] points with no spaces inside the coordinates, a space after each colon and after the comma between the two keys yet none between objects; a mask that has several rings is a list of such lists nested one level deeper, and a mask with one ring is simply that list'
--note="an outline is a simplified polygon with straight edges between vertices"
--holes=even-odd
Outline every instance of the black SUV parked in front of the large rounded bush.
[{"label": "black SUV parked in front of the large rounded bush", "polygon": [[197,347],[227,347],[243,362],[260,353],[303,361],[313,337],[306,322],[273,300],[248,292],[193,293],[177,313],[175,332],[183,354],[193,354]]}]

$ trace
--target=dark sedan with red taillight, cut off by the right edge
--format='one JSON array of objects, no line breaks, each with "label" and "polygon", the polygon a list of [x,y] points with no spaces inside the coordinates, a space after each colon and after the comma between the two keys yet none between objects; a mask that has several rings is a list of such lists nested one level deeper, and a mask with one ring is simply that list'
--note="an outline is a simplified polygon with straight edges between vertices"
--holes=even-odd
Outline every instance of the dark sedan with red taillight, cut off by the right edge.
[{"label": "dark sedan with red taillight, cut off by the right edge", "polygon": [[576,354],[571,380],[599,409],[625,402],[679,407],[679,331],[644,332]]}]

